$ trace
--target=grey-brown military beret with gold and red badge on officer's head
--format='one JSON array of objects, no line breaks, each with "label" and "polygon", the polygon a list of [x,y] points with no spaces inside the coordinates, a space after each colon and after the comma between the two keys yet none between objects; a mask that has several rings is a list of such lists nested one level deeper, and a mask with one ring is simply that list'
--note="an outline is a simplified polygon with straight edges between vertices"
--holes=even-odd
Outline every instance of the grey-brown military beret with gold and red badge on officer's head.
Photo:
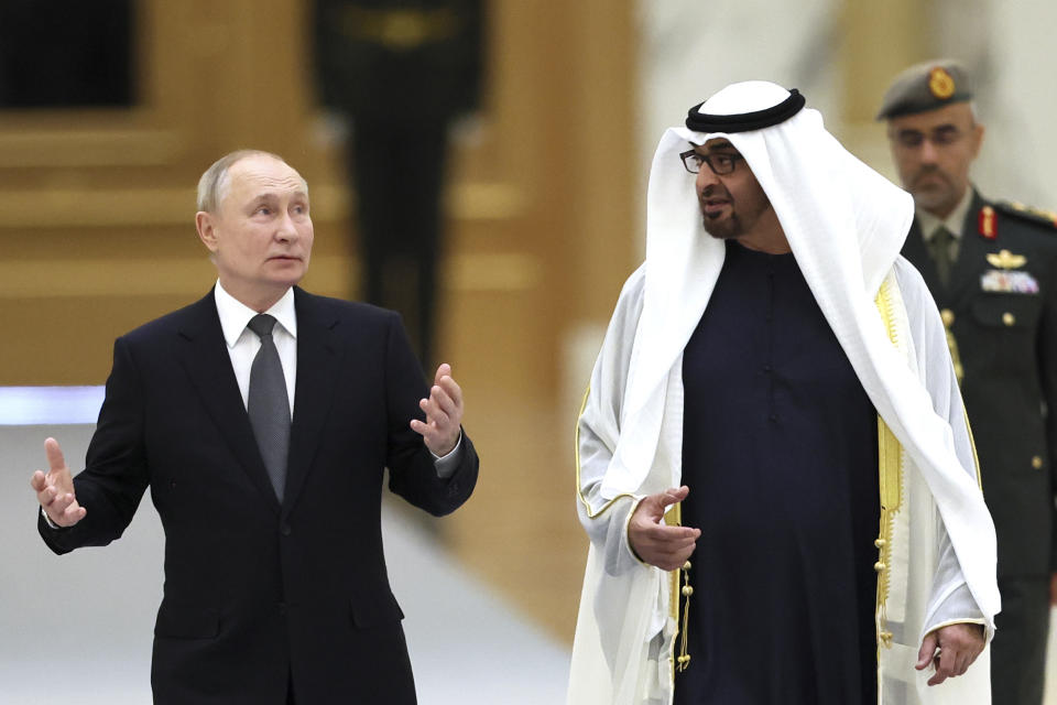
[{"label": "grey-brown military beret with gold and red badge on officer's head", "polygon": [[936,110],[972,100],[972,82],[966,67],[951,58],[911,66],[892,82],[878,110],[878,120]]}]

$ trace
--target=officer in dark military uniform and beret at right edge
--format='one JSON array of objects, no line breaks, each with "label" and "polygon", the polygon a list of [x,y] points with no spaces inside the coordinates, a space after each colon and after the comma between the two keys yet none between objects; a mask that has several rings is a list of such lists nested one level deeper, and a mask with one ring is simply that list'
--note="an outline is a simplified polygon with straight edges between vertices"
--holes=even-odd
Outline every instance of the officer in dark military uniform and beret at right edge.
[{"label": "officer in dark military uniform and beret at right edge", "polygon": [[914,195],[903,254],[947,325],[998,532],[992,693],[1038,705],[1057,601],[1057,227],[1053,214],[987,200],[971,186],[983,141],[972,96],[965,67],[927,62],[893,82],[878,119]]}]

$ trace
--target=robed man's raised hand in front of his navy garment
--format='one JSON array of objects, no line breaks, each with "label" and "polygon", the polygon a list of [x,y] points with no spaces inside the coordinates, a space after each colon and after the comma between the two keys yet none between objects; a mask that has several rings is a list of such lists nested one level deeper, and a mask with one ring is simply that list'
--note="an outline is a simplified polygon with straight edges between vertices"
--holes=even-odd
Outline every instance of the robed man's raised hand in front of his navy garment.
[{"label": "robed man's raised hand in front of his navy garment", "polygon": [[644,563],[664,571],[683,567],[694,553],[700,529],[669,527],[664,523],[664,508],[680,502],[690,494],[685,485],[644,497],[628,524],[628,542]]}]

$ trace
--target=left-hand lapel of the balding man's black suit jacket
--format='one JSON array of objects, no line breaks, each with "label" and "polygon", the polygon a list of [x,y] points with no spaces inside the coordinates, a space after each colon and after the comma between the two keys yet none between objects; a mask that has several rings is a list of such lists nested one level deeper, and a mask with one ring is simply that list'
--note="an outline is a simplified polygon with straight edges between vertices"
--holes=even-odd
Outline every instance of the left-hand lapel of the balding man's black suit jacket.
[{"label": "left-hand lapel of the balding man's black suit jacket", "polygon": [[277,513],[279,499],[268,479],[250,417],[242,404],[213,292],[188,308],[188,317],[177,330],[181,364],[203,406],[231,447],[239,466]]}]

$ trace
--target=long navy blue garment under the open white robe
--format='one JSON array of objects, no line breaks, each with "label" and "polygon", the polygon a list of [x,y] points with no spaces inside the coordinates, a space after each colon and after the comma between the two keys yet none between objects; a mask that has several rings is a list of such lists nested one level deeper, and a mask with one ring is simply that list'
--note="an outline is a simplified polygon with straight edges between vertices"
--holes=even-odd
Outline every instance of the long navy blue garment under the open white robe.
[{"label": "long navy blue garment under the open white robe", "polygon": [[728,242],[683,358],[677,705],[873,705],[876,412],[792,254]]}]

